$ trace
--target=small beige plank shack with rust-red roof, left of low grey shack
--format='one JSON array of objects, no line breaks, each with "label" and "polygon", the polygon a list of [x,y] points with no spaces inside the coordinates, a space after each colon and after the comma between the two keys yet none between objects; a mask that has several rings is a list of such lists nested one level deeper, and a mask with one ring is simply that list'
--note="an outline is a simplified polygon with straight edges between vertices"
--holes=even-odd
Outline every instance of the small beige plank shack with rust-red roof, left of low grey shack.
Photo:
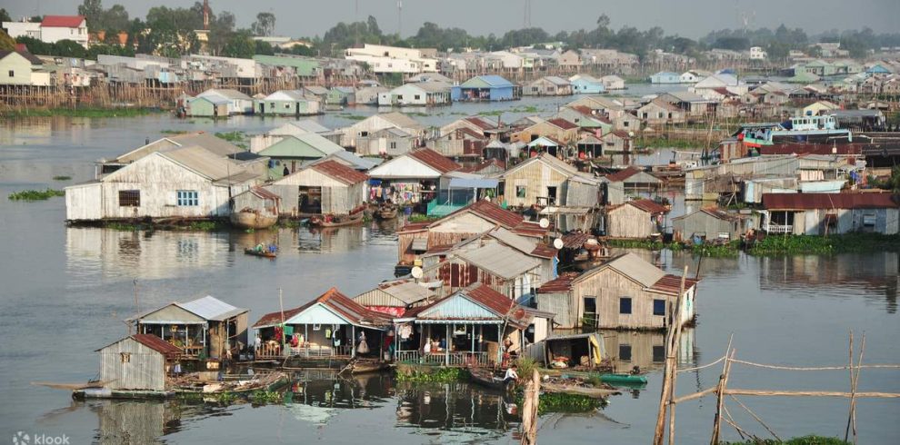
[{"label": "small beige plank shack with rust-red roof, left of low grey shack", "polygon": [[648,199],[609,205],[605,213],[605,234],[610,238],[645,240],[663,231],[665,213],[668,209]]}]

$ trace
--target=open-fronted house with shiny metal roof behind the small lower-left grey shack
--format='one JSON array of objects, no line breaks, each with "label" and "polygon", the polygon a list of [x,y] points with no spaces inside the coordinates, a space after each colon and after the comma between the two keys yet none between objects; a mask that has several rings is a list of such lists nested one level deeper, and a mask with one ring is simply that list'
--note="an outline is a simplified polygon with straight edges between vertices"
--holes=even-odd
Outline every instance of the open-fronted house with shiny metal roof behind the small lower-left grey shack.
[{"label": "open-fronted house with shiny metal roof behind the small lower-left grey shack", "polygon": [[247,343],[247,314],[215,297],[172,302],[128,319],[141,334],[175,345],[182,357],[196,360],[237,356]]}]

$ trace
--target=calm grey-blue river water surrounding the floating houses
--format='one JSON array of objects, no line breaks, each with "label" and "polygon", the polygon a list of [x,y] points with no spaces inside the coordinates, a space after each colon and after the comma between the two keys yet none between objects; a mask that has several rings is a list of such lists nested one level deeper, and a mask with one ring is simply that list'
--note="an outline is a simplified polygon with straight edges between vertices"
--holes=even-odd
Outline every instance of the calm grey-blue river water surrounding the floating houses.
[{"label": "calm grey-blue river water surrounding the floating houses", "polygon": [[[513,105],[555,110],[554,100]],[[490,110],[462,105],[419,117],[430,125]],[[465,108],[465,109],[464,109]],[[372,113],[358,110],[353,113]],[[525,113],[523,113],[525,114]],[[337,115],[319,119],[348,124]],[[504,120],[508,121],[507,116]],[[283,122],[253,117],[227,121],[179,121],[153,115],[127,119],[42,119],[0,123],[0,195],[61,188],[91,179],[93,162],[155,139],[164,130],[265,131]],[[56,175],[70,181],[57,182]],[[672,194],[671,197],[677,197]],[[684,209],[675,203],[675,213]],[[675,216],[675,215],[671,215]],[[256,443],[317,440],[322,443],[510,442],[519,418],[499,394],[452,385],[411,386],[386,376],[341,380],[296,376],[290,403],[215,407],[166,402],[71,401],[66,391],[32,381],[85,381],[98,370],[95,350],[126,333],[122,320],[141,308],[214,295],[251,309],[251,322],[278,308],[295,307],[328,288],[355,295],[391,278],[395,227],[375,223],[332,232],[116,232],[66,228],[62,198],[16,203],[0,198],[0,442],[17,431],[33,437],[66,435],[71,443]],[[277,242],[275,262],[246,257],[241,248]],[[671,252],[638,252],[670,272],[697,261]],[[836,257],[794,256],[704,259],[697,327],[688,331],[683,366],[715,361],[734,334],[737,358],[764,363],[826,366],[847,360],[847,333],[866,335],[865,361],[900,361],[897,253]],[[611,333],[639,348],[661,336]],[[856,350],[859,345],[857,343]],[[612,354],[620,351],[608,351]],[[650,355],[644,351],[645,355]],[[648,359],[649,360],[649,359]],[[631,362],[620,363],[627,369]],[[645,364],[646,366],[646,364]],[[646,443],[653,435],[661,376],[651,362],[644,391],[625,392],[604,410],[541,417],[545,443]],[[721,369],[679,375],[678,394],[715,385]],[[845,371],[771,371],[735,365],[729,386],[747,389],[848,391]],[[860,391],[900,392],[896,370],[865,370]],[[841,435],[847,401],[825,398],[742,399],[782,437],[816,432]],[[738,424],[764,435],[734,402]],[[682,443],[708,441],[715,398],[678,407]],[[861,443],[895,443],[900,402],[862,400]],[[732,429],[725,438],[736,439]]]}]

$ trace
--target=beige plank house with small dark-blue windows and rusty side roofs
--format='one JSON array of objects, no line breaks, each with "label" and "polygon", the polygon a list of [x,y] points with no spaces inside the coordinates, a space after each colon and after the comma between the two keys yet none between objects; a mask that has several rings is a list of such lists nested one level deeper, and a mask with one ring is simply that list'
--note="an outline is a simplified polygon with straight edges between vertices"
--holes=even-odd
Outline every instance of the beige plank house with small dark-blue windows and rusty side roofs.
[{"label": "beige plank house with small dark-blue windows and rusty side roofs", "polygon": [[625,253],[545,283],[537,290],[537,309],[557,314],[554,320],[564,329],[665,329],[694,320],[697,282],[685,279],[684,304],[675,314],[681,277]]}]

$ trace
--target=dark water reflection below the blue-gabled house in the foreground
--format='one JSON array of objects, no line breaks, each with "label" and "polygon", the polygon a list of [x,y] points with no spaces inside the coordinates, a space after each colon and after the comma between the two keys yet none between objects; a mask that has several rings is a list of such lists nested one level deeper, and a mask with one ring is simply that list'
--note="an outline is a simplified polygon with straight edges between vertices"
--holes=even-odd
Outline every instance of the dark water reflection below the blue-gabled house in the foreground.
[{"label": "dark water reflection below the blue-gabled house in the foreground", "polygon": [[397,427],[432,441],[478,443],[503,438],[518,427],[515,405],[503,393],[467,383],[397,385]]}]

